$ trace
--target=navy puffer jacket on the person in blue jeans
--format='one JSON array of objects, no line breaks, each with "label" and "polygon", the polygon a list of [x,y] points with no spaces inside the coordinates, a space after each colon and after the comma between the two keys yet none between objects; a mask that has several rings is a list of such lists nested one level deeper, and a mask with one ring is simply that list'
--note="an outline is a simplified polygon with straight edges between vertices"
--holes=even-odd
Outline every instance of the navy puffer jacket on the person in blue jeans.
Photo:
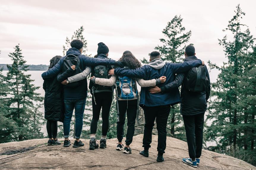
[{"label": "navy puffer jacket on the person in blue jeans", "polygon": [[[106,59],[98,59],[98,58],[91,58],[85,55],[81,55],[81,52],[76,48],[69,48],[67,51],[67,55],[73,54],[78,56],[80,59],[80,69],[84,70],[86,66],[96,66],[96,65],[115,65],[115,60],[106,60]],[[43,72],[42,78],[52,78],[56,77],[59,73],[65,71],[62,70],[62,63],[65,57],[62,57],[57,64],[51,69],[46,72]],[[67,77],[68,78],[68,77]],[[64,99],[73,99],[78,100],[82,98],[86,98],[87,96],[87,80],[81,80],[81,85],[77,88],[68,88],[64,86]]]}]

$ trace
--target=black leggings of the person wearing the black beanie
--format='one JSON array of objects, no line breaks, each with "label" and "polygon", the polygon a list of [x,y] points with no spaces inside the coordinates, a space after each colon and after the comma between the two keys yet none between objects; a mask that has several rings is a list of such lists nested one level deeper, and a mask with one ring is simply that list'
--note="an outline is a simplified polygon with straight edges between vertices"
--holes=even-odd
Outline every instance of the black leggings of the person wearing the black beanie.
[{"label": "black leggings of the person wearing the black beanie", "polygon": [[112,92],[94,93],[95,101],[92,96],[92,120],[91,134],[96,134],[99,121],[100,110],[102,108],[102,136],[107,136],[109,126],[109,111],[113,100]]}]

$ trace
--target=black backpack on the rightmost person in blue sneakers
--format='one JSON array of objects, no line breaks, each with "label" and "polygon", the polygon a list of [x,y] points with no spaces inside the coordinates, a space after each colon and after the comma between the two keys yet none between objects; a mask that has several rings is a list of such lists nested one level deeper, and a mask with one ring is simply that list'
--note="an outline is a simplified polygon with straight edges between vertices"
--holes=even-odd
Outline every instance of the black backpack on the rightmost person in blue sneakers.
[{"label": "black backpack on the rightmost person in blue sneakers", "polygon": [[187,72],[184,85],[188,91],[203,92],[207,88],[208,78],[204,66],[193,67]]}]

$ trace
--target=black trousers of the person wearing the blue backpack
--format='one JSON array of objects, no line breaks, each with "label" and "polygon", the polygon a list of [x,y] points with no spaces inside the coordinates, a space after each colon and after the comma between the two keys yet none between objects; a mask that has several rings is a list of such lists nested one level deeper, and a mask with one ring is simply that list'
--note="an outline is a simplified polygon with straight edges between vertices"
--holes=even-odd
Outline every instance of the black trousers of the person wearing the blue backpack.
[{"label": "black trousers of the person wearing the blue backpack", "polygon": [[[135,131],[135,121],[137,117],[137,100],[118,100],[118,109],[119,109],[119,122],[117,122],[116,130],[117,130],[117,139],[118,142],[122,142],[124,136],[124,123],[125,123],[125,115],[127,112],[127,133],[125,144],[130,145],[132,143],[132,137]],[[127,107],[128,103],[128,107]]]}]

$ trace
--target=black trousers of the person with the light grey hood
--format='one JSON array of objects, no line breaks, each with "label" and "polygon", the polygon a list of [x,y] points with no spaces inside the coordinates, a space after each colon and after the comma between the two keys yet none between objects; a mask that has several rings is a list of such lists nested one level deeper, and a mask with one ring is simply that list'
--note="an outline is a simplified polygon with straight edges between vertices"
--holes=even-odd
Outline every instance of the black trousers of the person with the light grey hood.
[{"label": "black trousers of the person with the light grey hood", "polygon": [[155,106],[155,107],[145,107],[145,125],[144,125],[144,136],[143,136],[143,146],[144,148],[150,148],[152,142],[152,130],[154,127],[154,121],[157,122],[157,132],[158,132],[158,144],[157,151],[160,153],[165,153],[166,148],[166,126],[168,116],[170,114],[170,105],[165,106]]}]

